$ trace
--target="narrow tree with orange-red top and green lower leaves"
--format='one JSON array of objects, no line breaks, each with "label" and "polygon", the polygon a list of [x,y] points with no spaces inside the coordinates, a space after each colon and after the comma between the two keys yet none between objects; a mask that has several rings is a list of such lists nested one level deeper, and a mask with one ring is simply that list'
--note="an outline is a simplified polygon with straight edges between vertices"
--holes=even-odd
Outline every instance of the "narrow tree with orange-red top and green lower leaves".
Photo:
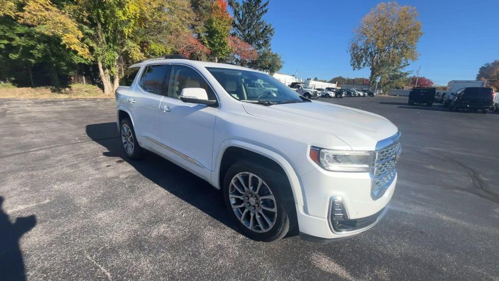
[{"label": "narrow tree with orange-red top and green lower leaves", "polygon": [[203,41],[210,49],[211,57],[215,62],[226,58],[231,53],[229,31],[232,21],[225,0],[216,0],[212,3],[210,16],[205,22],[206,32]]}]

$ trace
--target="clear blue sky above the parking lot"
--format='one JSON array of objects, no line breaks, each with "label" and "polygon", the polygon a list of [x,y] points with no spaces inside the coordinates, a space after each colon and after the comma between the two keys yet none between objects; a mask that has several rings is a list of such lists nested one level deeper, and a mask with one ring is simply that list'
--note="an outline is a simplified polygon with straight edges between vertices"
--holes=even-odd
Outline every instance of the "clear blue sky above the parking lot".
[{"label": "clear blue sky above the parking lot", "polygon": [[[352,30],[380,1],[270,0],[265,20],[275,35],[272,49],[284,60],[279,71],[300,78],[330,79],[342,75],[368,77],[369,69],[353,71],[347,52]],[[423,36],[417,61],[407,67],[436,84],[474,80],[486,62],[499,59],[499,0],[400,0],[415,6]]]}]

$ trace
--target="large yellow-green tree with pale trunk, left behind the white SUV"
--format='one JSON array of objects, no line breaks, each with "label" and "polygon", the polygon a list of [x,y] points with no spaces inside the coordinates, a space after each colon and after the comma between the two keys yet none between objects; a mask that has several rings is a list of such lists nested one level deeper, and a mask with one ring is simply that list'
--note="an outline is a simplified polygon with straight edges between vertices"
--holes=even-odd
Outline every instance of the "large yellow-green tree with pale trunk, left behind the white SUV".
[{"label": "large yellow-green tree with pale trunk, left behind the white SUV", "polygon": [[20,22],[58,36],[69,49],[95,62],[104,93],[118,87],[119,61],[172,50],[166,38],[192,25],[189,0],[26,0]]}]

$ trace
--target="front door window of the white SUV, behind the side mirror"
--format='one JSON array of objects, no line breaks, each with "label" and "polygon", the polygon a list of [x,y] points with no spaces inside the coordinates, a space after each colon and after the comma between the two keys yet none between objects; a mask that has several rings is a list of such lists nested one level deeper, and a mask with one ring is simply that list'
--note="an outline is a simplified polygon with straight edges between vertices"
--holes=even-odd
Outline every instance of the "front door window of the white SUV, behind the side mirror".
[{"label": "front door window of the white SUV, behind the side mirror", "polygon": [[173,65],[168,96],[180,98],[180,94],[185,88],[204,88],[208,93],[208,99],[217,99],[210,85],[196,70],[184,65]]}]

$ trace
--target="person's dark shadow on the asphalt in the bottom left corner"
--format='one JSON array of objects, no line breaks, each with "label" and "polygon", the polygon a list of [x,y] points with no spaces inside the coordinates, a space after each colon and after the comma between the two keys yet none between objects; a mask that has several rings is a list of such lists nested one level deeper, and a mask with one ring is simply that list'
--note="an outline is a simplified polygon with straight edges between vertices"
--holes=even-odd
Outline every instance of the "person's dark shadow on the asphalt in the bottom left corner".
[{"label": "person's dark shadow on the asphalt in the bottom left corner", "polygon": [[35,226],[36,217],[17,217],[15,222],[11,223],[1,208],[2,203],[3,197],[0,196],[0,279],[26,280],[19,239]]}]

